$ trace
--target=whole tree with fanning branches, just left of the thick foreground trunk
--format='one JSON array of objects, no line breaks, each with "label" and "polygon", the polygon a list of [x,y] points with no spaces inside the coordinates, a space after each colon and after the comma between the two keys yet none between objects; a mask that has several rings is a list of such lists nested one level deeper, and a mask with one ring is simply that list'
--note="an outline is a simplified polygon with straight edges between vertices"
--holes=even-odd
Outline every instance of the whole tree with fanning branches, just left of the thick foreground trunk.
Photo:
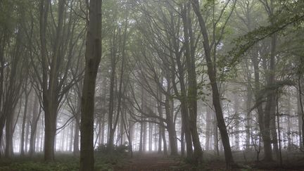
[{"label": "whole tree with fanning branches, just left of the thick foreground trunk", "polygon": [[[58,11],[56,20],[50,22],[49,15],[53,12],[51,11],[53,6],[56,6]],[[73,3],[70,3],[69,8],[72,7]],[[51,0],[39,3],[40,55],[32,58],[31,63],[32,72],[35,75],[34,88],[44,109],[44,160],[46,161],[54,160],[56,122],[60,104],[65,94],[80,78],[80,75],[73,77],[70,72],[78,69],[72,67],[76,61],[73,60],[75,57],[73,53],[77,49],[77,42],[82,36],[83,29],[77,25],[79,18],[75,18],[75,13],[67,11],[66,0],[58,1],[58,4],[52,3]],[[56,27],[56,29],[48,32],[47,30],[51,27]],[[48,42],[48,38],[52,38],[51,43]]]}]

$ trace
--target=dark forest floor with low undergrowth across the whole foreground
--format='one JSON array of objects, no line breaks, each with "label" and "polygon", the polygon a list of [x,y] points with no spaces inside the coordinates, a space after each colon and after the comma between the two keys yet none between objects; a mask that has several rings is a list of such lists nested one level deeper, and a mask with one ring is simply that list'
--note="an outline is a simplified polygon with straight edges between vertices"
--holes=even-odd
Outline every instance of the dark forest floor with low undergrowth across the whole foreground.
[{"label": "dark forest floor with low undergrowth across the whole foreground", "polygon": [[[42,154],[38,154],[34,158],[20,158],[15,156],[10,160],[0,160],[0,171],[23,171],[23,170],[56,170],[56,171],[72,171],[79,170],[79,158],[73,157],[70,153],[60,153],[56,155],[56,161],[53,163],[44,163]],[[304,170],[304,158],[296,160],[285,160],[284,165],[280,166],[277,162],[241,162],[237,161],[241,166],[240,171],[264,171],[264,170]],[[226,165],[222,158],[208,158],[205,156],[203,164],[195,167],[186,162],[181,157],[168,157],[158,153],[135,153],[132,158],[129,156],[96,156],[95,170],[101,171],[182,171],[182,170],[226,170]]]}]

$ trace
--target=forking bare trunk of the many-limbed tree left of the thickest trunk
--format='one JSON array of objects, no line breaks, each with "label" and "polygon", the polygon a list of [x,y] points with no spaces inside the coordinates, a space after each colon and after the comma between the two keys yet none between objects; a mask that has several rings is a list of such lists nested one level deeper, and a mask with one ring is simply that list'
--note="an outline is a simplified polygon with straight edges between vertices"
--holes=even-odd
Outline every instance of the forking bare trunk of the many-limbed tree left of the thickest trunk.
[{"label": "forking bare trunk of the many-limbed tree left of the thickest trunk", "polygon": [[[60,61],[59,49],[61,46],[63,32],[63,13],[65,9],[65,1],[58,1],[58,25],[56,27],[55,44],[53,46],[53,54],[51,56],[51,64],[49,64],[46,30],[49,15],[49,6],[51,0],[41,1],[40,3],[40,43],[42,56],[42,101],[44,106],[44,160],[54,160],[54,143],[56,139],[56,119],[58,114],[58,62]],[[49,68],[49,70],[48,70]]]}]

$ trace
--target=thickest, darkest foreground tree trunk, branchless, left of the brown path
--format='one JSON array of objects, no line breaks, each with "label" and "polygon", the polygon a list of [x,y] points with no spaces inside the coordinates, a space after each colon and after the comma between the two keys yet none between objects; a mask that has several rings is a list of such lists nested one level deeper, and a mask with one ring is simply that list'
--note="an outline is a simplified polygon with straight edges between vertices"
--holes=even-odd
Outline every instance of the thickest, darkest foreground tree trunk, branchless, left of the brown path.
[{"label": "thickest, darkest foreground tree trunk, branchless, left of the brown path", "polygon": [[101,0],[89,1],[81,108],[80,170],[94,170],[94,94],[101,61]]}]

